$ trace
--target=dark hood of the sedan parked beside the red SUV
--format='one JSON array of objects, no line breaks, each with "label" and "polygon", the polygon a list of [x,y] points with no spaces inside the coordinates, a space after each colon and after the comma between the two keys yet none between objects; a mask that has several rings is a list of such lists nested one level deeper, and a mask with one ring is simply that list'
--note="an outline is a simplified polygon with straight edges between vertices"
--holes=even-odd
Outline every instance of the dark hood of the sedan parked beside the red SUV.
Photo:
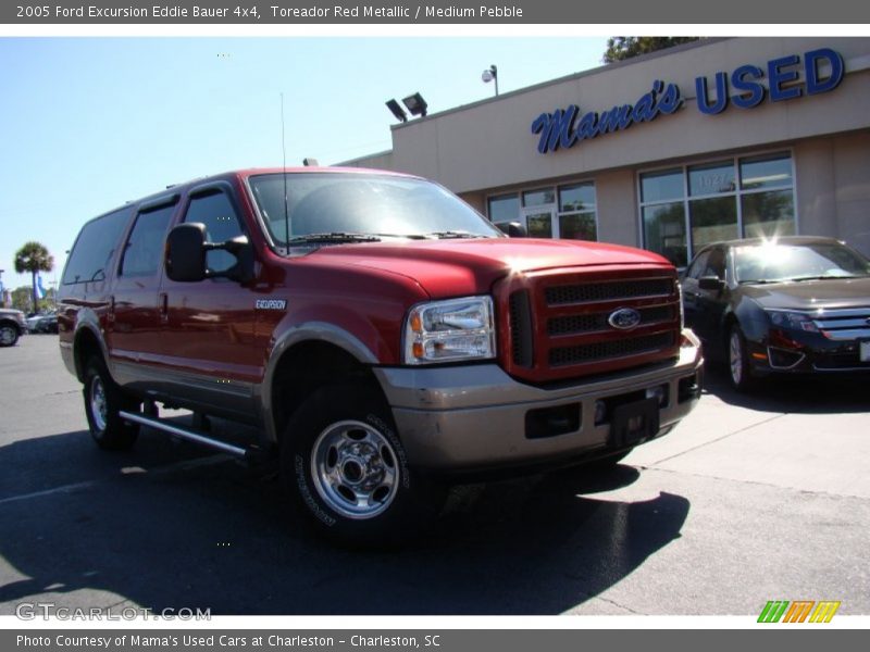
[{"label": "dark hood of the sedan parked beside the red SUV", "polygon": [[761,308],[833,310],[870,305],[870,277],[744,285],[739,291]]}]

